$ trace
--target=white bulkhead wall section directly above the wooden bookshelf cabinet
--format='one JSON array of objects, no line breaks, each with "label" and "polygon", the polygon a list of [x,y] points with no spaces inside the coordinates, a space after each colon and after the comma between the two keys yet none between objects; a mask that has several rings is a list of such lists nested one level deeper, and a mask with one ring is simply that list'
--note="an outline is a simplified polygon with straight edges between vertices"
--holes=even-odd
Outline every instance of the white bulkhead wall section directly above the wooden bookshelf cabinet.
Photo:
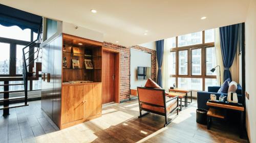
[{"label": "white bulkhead wall section directly above the wooden bookshelf cabinet", "polygon": [[76,29],[76,26],[77,25],[63,21],[62,22],[62,33],[103,42],[103,34],[102,33],[99,33],[99,32],[93,31],[93,30],[89,30],[88,28],[84,28],[81,26],[77,26],[78,28]]}]

